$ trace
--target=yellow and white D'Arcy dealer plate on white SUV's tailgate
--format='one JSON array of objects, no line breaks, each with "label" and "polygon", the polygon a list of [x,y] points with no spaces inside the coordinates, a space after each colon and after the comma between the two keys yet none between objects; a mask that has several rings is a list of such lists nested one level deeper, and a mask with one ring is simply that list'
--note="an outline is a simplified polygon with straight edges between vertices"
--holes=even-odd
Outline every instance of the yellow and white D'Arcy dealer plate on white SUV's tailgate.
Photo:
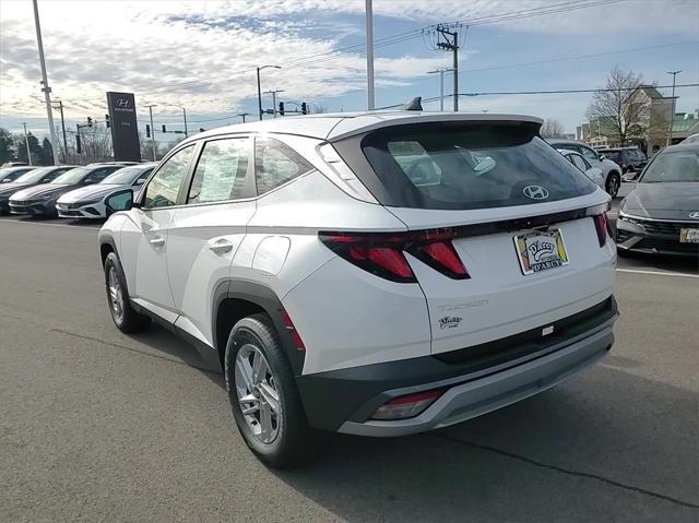
[{"label": "yellow and white D'Arcy dealer plate on white SUV's tailgate", "polygon": [[568,252],[559,229],[514,236],[522,274],[534,274],[568,264]]}]

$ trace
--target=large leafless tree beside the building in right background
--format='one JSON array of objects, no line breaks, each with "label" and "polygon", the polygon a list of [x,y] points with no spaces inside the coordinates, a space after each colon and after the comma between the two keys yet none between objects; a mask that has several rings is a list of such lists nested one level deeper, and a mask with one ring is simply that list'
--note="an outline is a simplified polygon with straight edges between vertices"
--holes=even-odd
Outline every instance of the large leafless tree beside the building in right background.
[{"label": "large leafless tree beside the building in right background", "polygon": [[621,144],[630,138],[642,135],[650,114],[650,98],[639,90],[642,84],[640,74],[615,67],[604,88],[592,95],[588,119],[603,119],[605,134],[617,138]]}]

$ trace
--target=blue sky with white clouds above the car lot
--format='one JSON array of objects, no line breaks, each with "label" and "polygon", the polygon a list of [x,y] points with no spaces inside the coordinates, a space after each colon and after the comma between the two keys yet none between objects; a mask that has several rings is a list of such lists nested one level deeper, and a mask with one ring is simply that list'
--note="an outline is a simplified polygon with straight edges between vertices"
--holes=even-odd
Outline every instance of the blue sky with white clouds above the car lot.
[{"label": "blue sky with white clouds above the car lot", "polygon": [[[280,99],[331,111],[366,108],[364,0],[39,0],[49,84],[67,123],[103,119],[106,91],[135,93],[139,121],[210,129],[256,112],[254,67]],[[544,9],[545,8],[545,9]],[[451,55],[433,47],[431,24],[464,24],[460,92],[585,90],[614,67],[648,82],[699,82],[697,0],[375,0],[377,106],[439,94]],[[469,25],[467,32],[465,25]],[[46,133],[31,0],[0,2],[0,127]],[[450,79],[447,91],[451,91]],[[662,90],[670,94],[670,90]],[[699,87],[677,91],[678,110],[699,108]],[[522,112],[572,132],[589,94],[484,95],[462,110]],[[170,104],[170,105],[168,105]],[[271,98],[265,95],[265,107]],[[438,108],[438,103],[427,104]],[[170,135],[171,136],[171,135]]]}]

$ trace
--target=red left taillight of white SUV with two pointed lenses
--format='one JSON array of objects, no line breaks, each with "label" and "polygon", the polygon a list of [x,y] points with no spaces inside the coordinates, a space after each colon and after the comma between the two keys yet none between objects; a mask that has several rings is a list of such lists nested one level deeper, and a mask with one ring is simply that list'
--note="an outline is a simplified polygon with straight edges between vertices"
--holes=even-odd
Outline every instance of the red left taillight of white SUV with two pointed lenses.
[{"label": "red left taillight of white SUV with two pointed lenses", "polygon": [[471,277],[451,240],[450,229],[411,233],[322,231],[320,240],[350,263],[399,283],[416,283],[405,252],[452,280]]}]

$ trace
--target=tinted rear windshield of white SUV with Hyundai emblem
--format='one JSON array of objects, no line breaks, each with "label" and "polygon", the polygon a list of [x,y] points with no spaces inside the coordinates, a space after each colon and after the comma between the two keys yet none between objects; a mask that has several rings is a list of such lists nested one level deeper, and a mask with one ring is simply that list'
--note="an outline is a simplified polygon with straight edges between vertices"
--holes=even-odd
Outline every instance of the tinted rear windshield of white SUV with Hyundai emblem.
[{"label": "tinted rear windshield of white SUV with Hyundai emblem", "polygon": [[593,192],[596,186],[537,130],[522,122],[423,123],[369,133],[360,146],[383,189],[372,192],[387,205],[469,210]]}]

